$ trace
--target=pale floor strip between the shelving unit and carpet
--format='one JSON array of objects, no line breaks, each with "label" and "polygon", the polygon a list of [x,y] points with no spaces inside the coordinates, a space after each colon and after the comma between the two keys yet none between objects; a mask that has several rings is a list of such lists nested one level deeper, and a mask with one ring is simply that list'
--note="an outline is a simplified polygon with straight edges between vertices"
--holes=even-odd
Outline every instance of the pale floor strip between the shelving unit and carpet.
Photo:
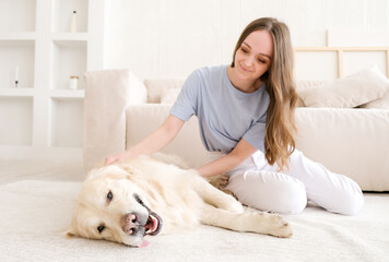
[{"label": "pale floor strip between the shelving unit and carpet", "polygon": [[82,163],[0,160],[0,184],[20,180],[83,181]]}]

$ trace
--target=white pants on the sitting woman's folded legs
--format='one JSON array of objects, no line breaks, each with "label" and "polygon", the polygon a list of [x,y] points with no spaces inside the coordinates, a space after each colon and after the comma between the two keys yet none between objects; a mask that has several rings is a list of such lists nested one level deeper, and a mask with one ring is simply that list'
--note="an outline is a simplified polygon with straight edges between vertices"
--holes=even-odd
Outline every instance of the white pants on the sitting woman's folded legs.
[{"label": "white pants on the sitting woman's folded legs", "polygon": [[[221,153],[210,153],[209,159],[221,156]],[[297,150],[288,160],[288,170],[278,172],[278,166],[269,165],[264,154],[258,151],[228,171],[227,189],[243,204],[282,214],[300,213],[307,200],[344,215],[354,215],[362,209],[362,190],[349,177],[329,171]]]}]

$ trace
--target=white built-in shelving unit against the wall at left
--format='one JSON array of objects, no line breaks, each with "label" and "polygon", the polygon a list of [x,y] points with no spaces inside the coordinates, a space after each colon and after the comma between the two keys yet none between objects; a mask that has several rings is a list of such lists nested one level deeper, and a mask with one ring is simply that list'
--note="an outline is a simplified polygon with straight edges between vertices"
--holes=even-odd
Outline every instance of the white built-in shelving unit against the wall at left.
[{"label": "white built-in shelving unit against the wall at left", "polygon": [[[1,1],[0,158],[82,158],[83,73],[104,68],[105,4]],[[72,75],[79,90],[69,88]]]}]

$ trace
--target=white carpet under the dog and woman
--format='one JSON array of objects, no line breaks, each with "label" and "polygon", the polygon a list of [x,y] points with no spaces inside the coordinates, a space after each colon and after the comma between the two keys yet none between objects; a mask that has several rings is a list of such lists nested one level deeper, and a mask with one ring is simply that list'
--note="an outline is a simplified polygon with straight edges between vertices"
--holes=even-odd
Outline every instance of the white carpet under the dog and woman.
[{"label": "white carpet under the dog and woman", "polygon": [[0,186],[0,261],[389,261],[389,194],[366,194],[357,216],[315,206],[285,216],[291,239],[200,226],[149,237],[146,248],[67,239],[81,182],[20,181]]}]

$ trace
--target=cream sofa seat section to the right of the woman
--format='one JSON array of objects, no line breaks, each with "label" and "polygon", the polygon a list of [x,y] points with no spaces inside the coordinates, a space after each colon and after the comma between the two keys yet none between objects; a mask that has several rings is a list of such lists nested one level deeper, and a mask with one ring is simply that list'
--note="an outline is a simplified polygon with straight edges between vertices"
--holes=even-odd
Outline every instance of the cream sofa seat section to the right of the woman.
[{"label": "cream sofa seat section to the right of the woman", "polygon": [[296,148],[363,190],[389,189],[389,110],[297,108]]}]

